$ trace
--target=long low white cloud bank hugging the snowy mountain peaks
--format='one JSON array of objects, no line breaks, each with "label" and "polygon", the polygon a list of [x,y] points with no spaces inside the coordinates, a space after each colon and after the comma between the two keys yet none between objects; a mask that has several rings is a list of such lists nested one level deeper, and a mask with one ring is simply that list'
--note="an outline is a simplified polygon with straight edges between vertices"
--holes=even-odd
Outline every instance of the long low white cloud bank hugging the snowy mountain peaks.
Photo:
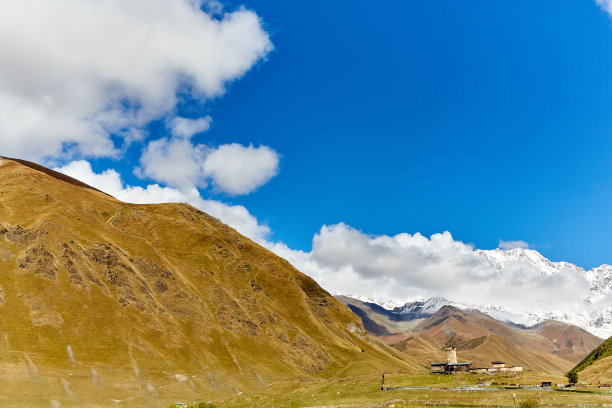
[{"label": "long low white cloud bank hugging the snowy mountain peaks", "polygon": [[361,297],[408,300],[445,297],[469,305],[496,305],[509,311],[584,308],[589,284],[562,269],[542,274],[527,263],[497,270],[449,232],[373,236],[346,224],[325,225],[311,252],[283,244],[270,249],[287,258],[327,290]]}]

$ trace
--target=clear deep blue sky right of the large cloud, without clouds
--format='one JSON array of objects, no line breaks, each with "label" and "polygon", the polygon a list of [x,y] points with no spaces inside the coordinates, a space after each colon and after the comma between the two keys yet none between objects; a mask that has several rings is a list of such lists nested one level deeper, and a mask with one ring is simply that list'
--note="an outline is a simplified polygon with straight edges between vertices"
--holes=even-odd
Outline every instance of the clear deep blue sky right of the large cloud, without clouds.
[{"label": "clear deep blue sky right of the large cloud, without clouds", "polygon": [[275,50],[206,103],[199,138],[282,155],[226,198],[275,239],[307,250],[342,221],[612,263],[612,24],[595,3],[238,4]]}]

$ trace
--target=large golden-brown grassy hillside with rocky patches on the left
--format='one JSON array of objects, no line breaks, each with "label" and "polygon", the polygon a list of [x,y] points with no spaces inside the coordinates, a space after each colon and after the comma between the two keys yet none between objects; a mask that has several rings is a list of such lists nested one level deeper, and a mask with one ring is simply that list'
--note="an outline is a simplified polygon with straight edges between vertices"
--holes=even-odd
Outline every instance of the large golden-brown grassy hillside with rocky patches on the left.
[{"label": "large golden-brown grassy hillside with rocky patches on the left", "polygon": [[0,158],[0,395],[166,406],[414,367],[309,277],[186,204]]}]

